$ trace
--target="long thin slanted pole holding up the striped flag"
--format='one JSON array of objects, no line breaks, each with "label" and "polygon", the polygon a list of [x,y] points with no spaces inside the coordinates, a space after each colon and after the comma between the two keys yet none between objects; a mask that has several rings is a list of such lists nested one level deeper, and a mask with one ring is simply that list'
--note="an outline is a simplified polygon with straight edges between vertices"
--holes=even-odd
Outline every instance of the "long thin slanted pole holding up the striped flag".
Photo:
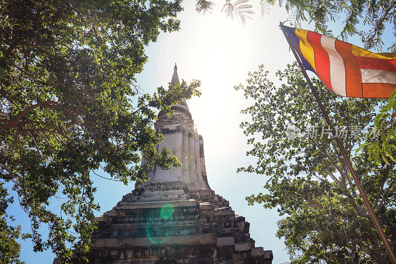
[{"label": "long thin slanted pole holding up the striped flag", "polygon": [[344,160],[345,160],[345,162],[347,164],[347,167],[348,167],[348,169],[350,171],[350,174],[351,174],[351,176],[352,176],[352,178],[353,178],[353,180],[354,180],[354,182],[356,184],[357,189],[359,190],[360,196],[362,197],[364,205],[366,206],[367,211],[370,214],[371,220],[374,223],[375,229],[377,230],[378,235],[380,236],[380,238],[382,240],[382,243],[384,243],[385,249],[387,250],[387,252],[389,254],[389,257],[391,258],[392,263],[396,264],[395,253],[394,253],[394,251],[393,251],[393,249],[392,249],[392,247],[391,247],[391,245],[390,245],[390,243],[389,243],[389,241],[388,241],[388,239],[387,239],[387,237],[386,237],[386,235],[384,233],[384,230],[381,227],[380,222],[377,219],[377,216],[375,215],[375,212],[374,212],[373,208],[370,205],[370,202],[369,202],[369,200],[367,198],[367,195],[366,195],[363,187],[360,184],[359,178],[356,176],[355,170],[353,169],[352,163],[350,162],[349,157],[347,156],[347,153],[346,153],[346,151],[344,149],[344,146],[343,146],[343,144],[341,143],[340,139],[337,136],[337,133],[336,133],[336,130],[334,129],[333,123],[331,122],[331,120],[330,120],[330,118],[329,118],[329,116],[328,116],[328,114],[326,112],[326,109],[323,106],[322,101],[319,98],[318,93],[316,92],[314,86],[312,85],[311,79],[309,79],[308,74],[306,73],[302,62],[301,62],[299,56],[297,55],[296,50],[294,49],[294,46],[292,45],[288,35],[284,31],[282,22],[280,23],[279,26],[281,27],[281,30],[282,30],[283,34],[285,35],[285,38],[288,41],[289,46],[292,49],[293,54],[295,55],[295,57],[297,59],[297,62],[298,62],[298,65],[301,68],[302,74],[304,75],[306,81],[308,82],[308,85],[311,88],[311,91],[312,91],[313,95],[315,96],[316,102],[318,102],[319,108],[320,108],[320,110],[321,110],[321,112],[322,112],[327,124],[330,127],[330,130],[331,130],[331,132],[333,134],[334,140],[336,141],[337,146],[340,149],[341,154],[343,155],[343,158],[344,158]]}]

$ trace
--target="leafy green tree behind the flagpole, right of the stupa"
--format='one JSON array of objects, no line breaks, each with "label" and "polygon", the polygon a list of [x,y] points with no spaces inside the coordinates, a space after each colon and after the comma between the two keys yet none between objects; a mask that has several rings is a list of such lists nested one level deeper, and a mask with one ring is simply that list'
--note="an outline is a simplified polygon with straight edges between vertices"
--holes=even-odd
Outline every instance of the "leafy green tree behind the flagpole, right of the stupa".
[{"label": "leafy green tree behind the flagpole, right of the stupa", "polygon": [[[256,165],[239,171],[267,177],[266,191],[247,197],[249,205],[277,208],[285,216],[278,222],[277,236],[285,239],[293,264],[390,262],[297,63],[276,73],[280,86],[267,74],[260,66],[249,73],[246,87],[236,87],[254,100],[243,110],[251,121],[241,127],[252,146],[247,155],[258,158]],[[371,125],[376,107],[384,101],[342,98],[318,79],[312,83],[395,248],[395,165],[376,160],[367,148],[357,150],[366,141],[382,144]],[[385,125],[378,130],[383,131]]]}]

